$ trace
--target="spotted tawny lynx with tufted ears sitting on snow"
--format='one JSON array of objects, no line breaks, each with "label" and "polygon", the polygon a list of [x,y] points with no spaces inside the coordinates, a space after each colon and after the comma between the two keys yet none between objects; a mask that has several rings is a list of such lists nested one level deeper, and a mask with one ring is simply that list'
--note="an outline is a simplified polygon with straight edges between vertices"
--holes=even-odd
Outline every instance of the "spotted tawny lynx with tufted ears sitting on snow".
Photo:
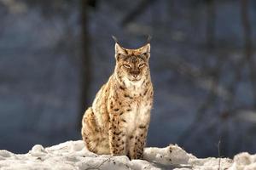
[{"label": "spotted tawny lynx with tufted ears sitting on snow", "polygon": [[143,159],[153,105],[149,57],[149,41],[141,48],[129,49],[115,39],[113,75],[96,94],[82,120],[81,133],[88,150]]}]

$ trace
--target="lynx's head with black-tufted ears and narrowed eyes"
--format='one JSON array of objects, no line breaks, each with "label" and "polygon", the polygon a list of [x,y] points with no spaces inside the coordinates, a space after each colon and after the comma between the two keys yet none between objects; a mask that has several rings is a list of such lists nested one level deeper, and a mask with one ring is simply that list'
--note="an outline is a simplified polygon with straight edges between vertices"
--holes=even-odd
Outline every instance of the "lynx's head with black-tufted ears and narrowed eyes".
[{"label": "lynx's head with black-tufted ears and narrowed eyes", "polygon": [[141,48],[128,49],[115,43],[115,72],[121,82],[141,82],[149,75],[149,42]]}]

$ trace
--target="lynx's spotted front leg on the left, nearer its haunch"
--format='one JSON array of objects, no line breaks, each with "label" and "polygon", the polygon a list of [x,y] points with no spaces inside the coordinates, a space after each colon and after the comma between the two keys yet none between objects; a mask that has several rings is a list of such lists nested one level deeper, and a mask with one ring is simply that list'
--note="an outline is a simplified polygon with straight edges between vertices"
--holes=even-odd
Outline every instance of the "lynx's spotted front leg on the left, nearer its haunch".
[{"label": "lynx's spotted front leg on the left, nearer its haunch", "polygon": [[109,146],[112,156],[125,156],[126,155],[126,137],[125,129],[122,124],[125,120],[118,116],[111,116],[109,123]]}]

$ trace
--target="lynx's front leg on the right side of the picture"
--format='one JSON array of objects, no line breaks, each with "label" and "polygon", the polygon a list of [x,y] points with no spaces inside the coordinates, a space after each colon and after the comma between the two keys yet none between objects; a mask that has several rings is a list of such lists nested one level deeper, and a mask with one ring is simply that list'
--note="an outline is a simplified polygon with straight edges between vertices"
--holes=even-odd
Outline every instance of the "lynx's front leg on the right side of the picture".
[{"label": "lynx's front leg on the right side of the picture", "polygon": [[143,150],[146,144],[148,126],[140,125],[137,127],[135,135],[131,136],[131,147],[129,150],[130,159],[143,159]]}]

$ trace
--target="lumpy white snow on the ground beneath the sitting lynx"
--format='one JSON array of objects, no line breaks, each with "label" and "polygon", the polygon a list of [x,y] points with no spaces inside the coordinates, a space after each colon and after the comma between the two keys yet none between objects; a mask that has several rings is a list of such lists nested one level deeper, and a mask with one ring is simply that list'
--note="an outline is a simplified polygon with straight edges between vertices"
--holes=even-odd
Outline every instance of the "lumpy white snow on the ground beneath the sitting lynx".
[{"label": "lumpy white snow on the ground beneath the sitting lynx", "polygon": [[234,160],[229,158],[197,158],[176,144],[166,148],[146,148],[145,160],[130,161],[127,156],[97,156],[86,150],[84,142],[68,141],[44,148],[36,144],[26,154],[14,154],[0,150],[1,170],[89,170],[89,169],[256,169],[256,155],[246,152],[238,154]]}]

